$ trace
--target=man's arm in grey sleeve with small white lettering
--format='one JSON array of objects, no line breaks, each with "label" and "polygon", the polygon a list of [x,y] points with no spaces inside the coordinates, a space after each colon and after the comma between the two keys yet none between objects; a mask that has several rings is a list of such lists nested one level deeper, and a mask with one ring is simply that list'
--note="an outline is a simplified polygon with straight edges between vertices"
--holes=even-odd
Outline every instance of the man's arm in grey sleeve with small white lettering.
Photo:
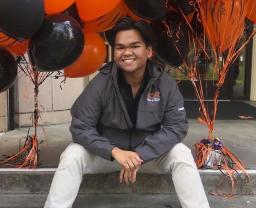
[{"label": "man's arm in grey sleeve with small white lettering", "polygon": [[187,135],[188,123],[186,111],[183,108],[183,97],[174,81],[168,94],[164,111],[162,128],[144,139],[135,151],[139,153],[144,163],[162,156],[165,152],[180,143]]}]

